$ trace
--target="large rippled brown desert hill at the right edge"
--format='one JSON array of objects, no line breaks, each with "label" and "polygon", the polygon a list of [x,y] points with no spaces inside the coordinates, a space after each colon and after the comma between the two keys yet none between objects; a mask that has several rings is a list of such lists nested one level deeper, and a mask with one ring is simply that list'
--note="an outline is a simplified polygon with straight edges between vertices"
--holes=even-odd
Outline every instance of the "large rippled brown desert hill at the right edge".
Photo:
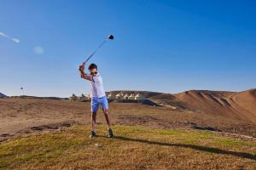
[{"label": "large rippled brown desert hill at the right edge", "polygon": [[244,92],[190,90],[159,94],[150,99],[160,105],[256,122],[256,89]]}]

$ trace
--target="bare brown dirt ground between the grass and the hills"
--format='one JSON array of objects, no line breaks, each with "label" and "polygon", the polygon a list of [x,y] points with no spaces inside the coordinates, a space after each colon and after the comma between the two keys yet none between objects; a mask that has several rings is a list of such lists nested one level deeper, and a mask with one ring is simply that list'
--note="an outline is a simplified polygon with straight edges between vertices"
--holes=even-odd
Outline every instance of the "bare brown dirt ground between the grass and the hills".
[{"label": "bare brown dirt ground between the grass and the hills", "polygon": [[[109,109],[113,124],[195,128],[256,136],[256,126],[253,122],[224,116],[137,103],[112,102]],[[97,124],[104,123],[102,111],[99,111]],[[0,141],[30,133],[57,131],[73,124],[90,124],[90,102],[0,99]]]}]

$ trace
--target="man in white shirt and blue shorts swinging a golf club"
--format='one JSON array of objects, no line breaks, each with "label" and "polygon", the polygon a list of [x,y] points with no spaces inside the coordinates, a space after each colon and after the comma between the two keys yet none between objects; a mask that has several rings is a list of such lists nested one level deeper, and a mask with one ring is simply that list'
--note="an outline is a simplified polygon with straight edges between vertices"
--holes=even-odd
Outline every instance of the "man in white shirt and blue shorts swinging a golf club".
[{"label": "man in white shirt and blue shorts swinging a golf club", "polygon": [[98,73],[97,65],[90,64],[88,70],[90,75],[84,73],[84,65],[79,66],[79,71],[81,73],[81,78],[84,78],[90,82],[90,98],[91,98],[91,132],[90,138],[96,137],[96,113],[98,111],[99,105],[102,105],[102,111],[108,123],[108,137],[113,137],[113,131],[110,127],[110,119],[108,114],[108,99],[103,88],[102,77]]}]

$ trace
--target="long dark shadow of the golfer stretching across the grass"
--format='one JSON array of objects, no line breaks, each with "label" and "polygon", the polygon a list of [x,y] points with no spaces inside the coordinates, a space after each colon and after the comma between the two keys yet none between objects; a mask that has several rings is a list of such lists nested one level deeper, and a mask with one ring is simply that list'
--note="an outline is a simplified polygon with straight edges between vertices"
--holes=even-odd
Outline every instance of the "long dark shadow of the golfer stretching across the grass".
[{"label": "long dark shadow of the golfer stretching across the grass", "polygon": [[[99,137],[108,138],[106,136],[99,136]],[[148,141],[145,139],[131,139],[131,138],[123,137],[123,136],[115,136],[113,138],[125,140],[125,141],[131,141],[131,142],[139,142],[139,143],[143,143],[143,144],[154,144],[154,145],[161,145],[161,146],[170,146],[170,147],[176,146],[176,147],[182,147],[182,148],[190,148],[192,150],[201,150],[201,151],[206,151],[206,152],[215,153],[215,154],[236,156],[236,157],[247,158],[247,159],[256,161],[256,155],[246,153],[246,152],[220,150],[218,148],[200,146],[200,145],[195,145],[195,144],[170,144],[170,143],[162,143],[162,142],[156,142],[156,141]]]}]

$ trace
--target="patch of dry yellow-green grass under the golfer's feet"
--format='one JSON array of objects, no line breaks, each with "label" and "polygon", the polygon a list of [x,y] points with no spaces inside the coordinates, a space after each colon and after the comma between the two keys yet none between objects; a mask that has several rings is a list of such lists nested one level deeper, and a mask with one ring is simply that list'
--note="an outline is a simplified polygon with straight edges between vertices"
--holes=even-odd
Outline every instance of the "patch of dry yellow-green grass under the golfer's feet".
[{"label": "patch of dry yellow-green grass under the golfer's feet", "polygon": [[[256,143],[217,133],[114,126],[70,127],[0,144],[0,169],[255,169]],[[96,148],[95,144],[99,144]]]}]

